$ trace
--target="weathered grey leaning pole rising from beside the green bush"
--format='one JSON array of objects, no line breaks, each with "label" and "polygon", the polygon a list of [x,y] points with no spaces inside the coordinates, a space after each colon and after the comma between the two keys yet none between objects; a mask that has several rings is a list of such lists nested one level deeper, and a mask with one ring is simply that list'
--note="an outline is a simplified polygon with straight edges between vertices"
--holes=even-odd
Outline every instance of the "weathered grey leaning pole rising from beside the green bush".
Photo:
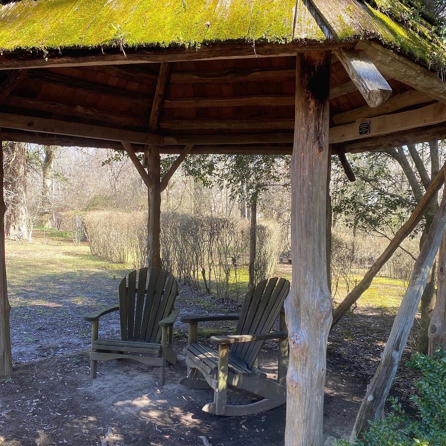
[{"label": "weathered grey leaning pole rising from beside the green bush", "polygon": [[[442,174],[444,175],[444,172]],[[352,438],[357,437],[367,429],[368,420],[377,420],[381,416],[445,228],[446,196],[442,199],[437,215],[435,215],[430,226],[429,234],[413,267],[409,286],[393,321],[392,330],[381,355],[380,365],[367,387],[367,392],[356,416],[351,433]]]}]

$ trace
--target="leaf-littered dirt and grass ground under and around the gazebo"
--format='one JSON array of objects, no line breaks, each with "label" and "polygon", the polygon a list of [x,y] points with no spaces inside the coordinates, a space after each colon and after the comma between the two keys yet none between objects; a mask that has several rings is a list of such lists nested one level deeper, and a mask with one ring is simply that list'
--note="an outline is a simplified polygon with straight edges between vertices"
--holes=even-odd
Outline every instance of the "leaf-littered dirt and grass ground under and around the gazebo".
[{"label": "leaf-littered dirt and grass ground under and around the gazebo", "polygon": [[[178,362],[166,384],[156,384],[158,368],[130,360],[98,363],[89,378],[90,323],[82,315],[117,301],[119,280],[128,271],[95,260],[87,247],[46,240],[41,252],[32,245],[7,246],[14,374],[0,381],[0,445],[283,445],[285,405],[248,417],[217,417],[201,408],[211,391],[178,384],[186,366],[182,348],[187,325],[175,325]],[[56,267],[56,266],[57,267]],[[280,265],[290,274],[291,265]],[[237,311],[237,305],[182,287],[181,314]],[[358,307],[330,333],[324,400],[324,440],[348,436],[366,385],[379,362],[393,315],[382,308]],[[235,325],[204,323],[199,340],[229,333]],[[115,315],[101,319],[101,336],[118,336]],[[410,348],[405,352],[405,359]],[[265,343],[260,368],[277,373],[277,343]],[[413,378],[401,366],[392,394],[410,410]],[[409,383],[409,384],[408,384]],[[252,396],[230,391],[229,403]]]}]

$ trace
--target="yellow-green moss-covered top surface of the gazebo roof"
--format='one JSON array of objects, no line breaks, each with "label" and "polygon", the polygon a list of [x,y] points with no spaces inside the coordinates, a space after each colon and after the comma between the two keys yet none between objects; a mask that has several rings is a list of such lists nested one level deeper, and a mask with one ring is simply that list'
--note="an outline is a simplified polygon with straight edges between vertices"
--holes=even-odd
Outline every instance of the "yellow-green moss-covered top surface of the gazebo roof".
[{"label": "yellow-green moss-covered top surface of the gazebo roof", "polygon": [[444,62],[431,25],[408,11],[399,0],[13,1],[0,7],[0,50],[375,38],[426,65]]}]

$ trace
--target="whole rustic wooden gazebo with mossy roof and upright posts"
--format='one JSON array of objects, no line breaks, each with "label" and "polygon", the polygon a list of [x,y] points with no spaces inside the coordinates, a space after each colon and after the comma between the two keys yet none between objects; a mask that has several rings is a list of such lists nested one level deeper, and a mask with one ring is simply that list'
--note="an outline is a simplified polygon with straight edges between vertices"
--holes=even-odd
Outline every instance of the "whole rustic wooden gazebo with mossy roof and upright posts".
[{"label": "whole rustic wooden gazebo with mossy roof and upright posts", "polygon": [[[293,153],[287,446],[322,445],[332,318],[329,154],[348,169],[345,153],[446,137],[446,85],[438,77],[445,51],[433,24],[423,14],[407,18],[404,2],[381,3],[33,0],[0,7],[1,139],[127,151],[148,186],[149,265],[161,261],[161,190],[186,154]],[[145,167],[136,152],[145,153]],[[160,153],[179,154],[162,179]],[[4,240],[0,247],[0,375],[7,375]]]}]

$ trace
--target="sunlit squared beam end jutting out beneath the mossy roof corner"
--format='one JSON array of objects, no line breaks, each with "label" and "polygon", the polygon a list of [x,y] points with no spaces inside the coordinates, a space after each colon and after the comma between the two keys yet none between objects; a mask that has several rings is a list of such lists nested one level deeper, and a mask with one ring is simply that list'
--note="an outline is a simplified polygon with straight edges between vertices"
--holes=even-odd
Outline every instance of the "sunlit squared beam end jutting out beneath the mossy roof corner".
[{"label": "sunlit squared beam end jutting out beneath the mossy roof corner", "polygon": [[379,107],[392,94],[392,88],[361,50],[335,50],[335,54],[369,107]]}]

